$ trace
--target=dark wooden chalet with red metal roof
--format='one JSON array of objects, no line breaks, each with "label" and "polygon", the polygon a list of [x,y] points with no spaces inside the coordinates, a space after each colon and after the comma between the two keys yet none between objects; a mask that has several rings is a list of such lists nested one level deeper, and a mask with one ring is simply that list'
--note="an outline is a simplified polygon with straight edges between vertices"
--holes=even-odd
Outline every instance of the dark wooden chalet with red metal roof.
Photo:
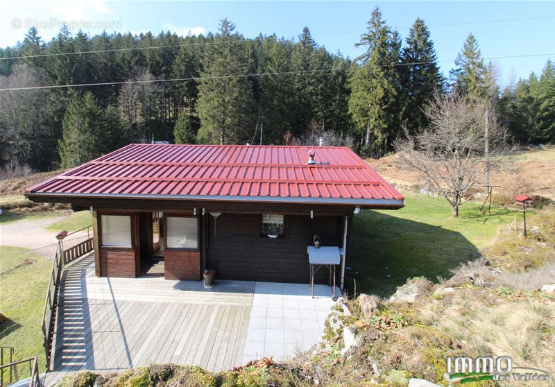
[{"label": "dark wooden chalet with red metal roof", "polygon": [[[307,283],[307,246],[343,248],[353,214],[403,196],[350,148],[130,144],[36,184],[35,202],[92,212],[96,275]],[[317,282],[327,279],[317,273]]]}]

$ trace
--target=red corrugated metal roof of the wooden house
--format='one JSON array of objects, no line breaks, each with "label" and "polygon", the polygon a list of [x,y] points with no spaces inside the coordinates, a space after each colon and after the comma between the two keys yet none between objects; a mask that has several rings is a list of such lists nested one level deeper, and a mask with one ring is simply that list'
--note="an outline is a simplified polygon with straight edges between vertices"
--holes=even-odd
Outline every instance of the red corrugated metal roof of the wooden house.
[{"label": "red corrugated metal roof of the wooden house", "polygon": [[[317,164],[307,165],[309,150]],[[350,148],[130,144],[26,190],[28,196],[287,201],[401,207]]]}]

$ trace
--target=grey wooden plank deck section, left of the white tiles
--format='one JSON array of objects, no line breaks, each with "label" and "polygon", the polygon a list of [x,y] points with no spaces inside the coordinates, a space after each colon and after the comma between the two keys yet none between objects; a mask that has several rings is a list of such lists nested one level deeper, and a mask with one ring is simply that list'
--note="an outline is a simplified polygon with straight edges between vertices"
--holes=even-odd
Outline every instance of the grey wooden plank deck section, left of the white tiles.
[{"label": "grey wooden plank deck section, left of the white tiles", "polygon": [[[218,371],[240,365],[255,282],[163,278],[99,278],[94,257],[65,270],[60,294],[53,372],[102,373],[151,363],[200,365]],[[216,289],[218,289],[216,291]]]}]

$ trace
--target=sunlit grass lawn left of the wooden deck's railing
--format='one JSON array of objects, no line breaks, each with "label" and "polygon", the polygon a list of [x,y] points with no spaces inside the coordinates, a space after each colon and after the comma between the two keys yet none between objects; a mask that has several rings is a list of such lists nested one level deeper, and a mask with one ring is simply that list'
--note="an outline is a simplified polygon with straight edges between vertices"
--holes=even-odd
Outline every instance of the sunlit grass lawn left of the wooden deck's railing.
[{"label": "sunlit grass lawn left of the wooden deck's railing", "polygon": [[[40,320],[52,264],[43,257],[26,254],[26,251],[24,248],[0,247],[0,311],[8,318],[0,323],[0,346],[15,347],[17,360],[39,356],[40,372],[44,372]],[[5,273],[25,259],[35,259],[36,262]],[[27,366],[22,365],[19,376],[28,376]]]}]

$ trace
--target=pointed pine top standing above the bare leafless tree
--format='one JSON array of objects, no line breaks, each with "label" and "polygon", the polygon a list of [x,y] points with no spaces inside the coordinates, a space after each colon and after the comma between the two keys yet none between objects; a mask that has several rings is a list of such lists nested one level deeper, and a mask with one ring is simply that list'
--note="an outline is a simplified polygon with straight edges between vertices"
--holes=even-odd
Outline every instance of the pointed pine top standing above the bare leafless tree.
[{"label": "pointed pine top standing above the bare leafless tree", "polygon": [[487,70],[478,42],[472,33],[466,38],[463,50],[456,56],[455,65],[457,67],[450,71],[454,87],[474,101],[486,101],[488,99]]}]

